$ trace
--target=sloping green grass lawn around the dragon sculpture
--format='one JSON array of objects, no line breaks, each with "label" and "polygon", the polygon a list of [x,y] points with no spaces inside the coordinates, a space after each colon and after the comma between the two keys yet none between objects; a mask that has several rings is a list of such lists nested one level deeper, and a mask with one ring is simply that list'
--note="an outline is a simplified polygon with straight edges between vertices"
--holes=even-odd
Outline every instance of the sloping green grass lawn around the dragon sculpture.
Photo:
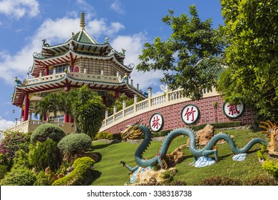
[{"label": "sloping green grass lawn around the dragon sculpture", "polygon": [[[217,131],[215,131],[217,133]],[[265,139],[265,135],[261,133],[254,133],[250,130],[231,130],[223,131],[226,134],[232,134],[235,136],[235,144],[238,148],[242,148],[248,141],[253,138],[260,137]],[[179,136],[173,140],[170,145],[169,153],[176,149],[178,146],[185,144],[187,136]],[[147,151],[145,151],[144,157],[153,157],[158,150],[162,142],[153,141]],[[99,186],[122,186],[129,180],[130,171],[120,164],[120,161],[125,161],[129,166],[135,166],[133,155],[139,144],[130,144],[128,142],[121,142],[118,144],[105,144],[101,141],[93,143],[94,151],[101,154],[102,159],[96,163],[95,175],[96,180],[92,185]],[[232,151],[230,146],[225,144],[219,144],[218,156],[220,161],[217,164],[206,166],[202,168],[195,168],[190,166],[190,163],[194,161],[192,154],[188,148],[183,149],[185,152],[185,159],[180,164],[177,164],[177,174],[174,176],[174,180],[185,181],[187,185],[199,184],[203,179],[210,176],[229,176],[238,178],[241,180],[250,179],[259,174],[266,174],[262,170],[262,165],[259,164],[256,151],[260,149],[261,144],[256,144],[248,152],[247,158],[244,161],[233,161]]]}]

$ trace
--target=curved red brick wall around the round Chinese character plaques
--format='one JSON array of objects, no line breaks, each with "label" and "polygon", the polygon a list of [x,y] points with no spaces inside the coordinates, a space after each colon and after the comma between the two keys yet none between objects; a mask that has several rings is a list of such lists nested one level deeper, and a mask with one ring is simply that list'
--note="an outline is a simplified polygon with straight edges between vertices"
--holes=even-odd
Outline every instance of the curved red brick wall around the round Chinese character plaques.
[{"label": "curved red brick wall around the round Chinese character plaques", "polygon": [[[213,106],[213,103],[217,101],[217,108]],[[242,125],[246,124],[253,124],[255,113],[249,108],[245,107],[244,114],[238,117],[237,119],[230,119],[222,110],[222,106],[224,101],[222,101],[221,96],[212,96],[205,99],[201,99],[199,101],[186,101],[180,104],[174,104],[171,106],[165,106],[160,109],[155,109],[153,111],[148,111],[144,114],[140,114],[133,118],[127,119],[109,129],[106,129],[105,132],[111,132],[113,134],[119,133],[123,131],[128,124],[135,124],[136,121],[141,119],[141,124],[146,124],[149,126],[150,116],[155,113],[160,113],[163,115],[164,119],[164,126],[163,130],[167,129],[177,129],[181,127],[185,127],[185,123],[182,121],[181,118],[181,111],[183,107],[187,104],[195,104],[198,109],[200,110],[200,117],[195,124],[209,124],[209,123],[220,123],[220,122],[227,122],[227,121],[241,121]]]}]

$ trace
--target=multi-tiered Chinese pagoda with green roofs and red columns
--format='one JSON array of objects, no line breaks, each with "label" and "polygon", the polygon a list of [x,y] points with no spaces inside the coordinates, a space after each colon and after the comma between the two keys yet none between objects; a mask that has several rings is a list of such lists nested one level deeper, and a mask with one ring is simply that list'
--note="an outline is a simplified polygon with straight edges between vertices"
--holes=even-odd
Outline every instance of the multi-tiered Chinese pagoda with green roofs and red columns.
[{"label": "multi-tiered Chinese pagoda with green roofs and red columns", "polygon": [[[105,39],[103,44],[93,39],[85,29],[85,14],[81,13],[80,31],[71,34],[63,44],[49,45],[43,39],[41,53],[34,53],[34,64],[23,81],[15,79],[16,85],[11,102],[21,108],[21,123],[30,119],[36,101],[45,94],[69,91],[83,85],[98,91],[105,104],[108,94],[118,98],[120,94],[132,98],[145,96],[133,80],[129,80],[133,64],[123,64],[125,50],[118,52]],[[30,78],[29,76],[33,76]],[[130,83],[129,83],[130,82]],[[46,116],[44,116],[46,120]],[[64,116],[63,122],[73,122]]]}]

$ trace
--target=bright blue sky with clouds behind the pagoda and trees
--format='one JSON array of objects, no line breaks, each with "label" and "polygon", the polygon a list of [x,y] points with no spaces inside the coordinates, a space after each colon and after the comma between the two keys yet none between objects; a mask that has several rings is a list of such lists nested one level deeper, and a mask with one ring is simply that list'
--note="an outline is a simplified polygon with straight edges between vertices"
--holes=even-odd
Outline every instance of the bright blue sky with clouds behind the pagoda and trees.
[{"label": "bright blue sky with clouds behind the pagoda and trees", "polygon": [[[192,4],[201,19],[212,18],[215,27],[223,24],[219,0],[0,0],[0,130],[20,116],[20,109],[11,104],[14,76],[26,78],[42,39],[60,44],[79,31],[82,11],[86,31],[100,44],[108,36],[114,49],[126,49],[125,64],[136,65],[145,42],[170,36],[170,27],[161,21],[168,10],[175,10],[175,16],[188,14]],[[156,93],[162,76],[158,71],[143,74],[133,69],[131,79],[143,91],[151,86]]]}]

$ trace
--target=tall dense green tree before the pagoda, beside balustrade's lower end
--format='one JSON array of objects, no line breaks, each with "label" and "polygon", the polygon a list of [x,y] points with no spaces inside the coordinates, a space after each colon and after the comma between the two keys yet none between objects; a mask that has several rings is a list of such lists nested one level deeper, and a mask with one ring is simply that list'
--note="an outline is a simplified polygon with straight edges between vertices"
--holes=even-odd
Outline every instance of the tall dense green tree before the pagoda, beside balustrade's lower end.
[{"label": "tall dense green tree before the pagoda, beside balustrade's lower end", "polygon": [[77,99],[71,106],[77,132],[93,138],[101,128],[105,113],[101,96],[91,91],[88,86],[82,86],[78,89]]}]

